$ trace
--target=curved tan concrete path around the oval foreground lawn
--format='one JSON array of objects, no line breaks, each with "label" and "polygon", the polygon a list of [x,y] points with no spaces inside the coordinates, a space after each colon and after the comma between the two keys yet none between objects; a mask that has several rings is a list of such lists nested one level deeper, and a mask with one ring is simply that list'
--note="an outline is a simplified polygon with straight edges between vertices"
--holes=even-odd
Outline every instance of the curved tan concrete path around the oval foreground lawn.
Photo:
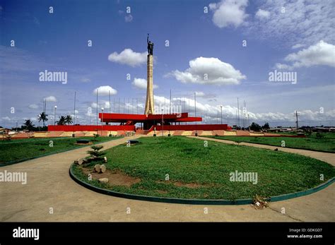
[{"label": "curved tan concrete path around the oval foreground lawn", "polygon": [[[100,145],[111,148],[138,137]],[[71,163],[84,157],[86,150],[80,148],[0,167],[0,172],[28,174],[25,185],[0,182],[0,221],[335,221],[334,185],[309,196],[271,203],[263,210],[251,205],[153,203],[102,195],[69,177]],[[282,208],[285,214],[281,213]]]}]

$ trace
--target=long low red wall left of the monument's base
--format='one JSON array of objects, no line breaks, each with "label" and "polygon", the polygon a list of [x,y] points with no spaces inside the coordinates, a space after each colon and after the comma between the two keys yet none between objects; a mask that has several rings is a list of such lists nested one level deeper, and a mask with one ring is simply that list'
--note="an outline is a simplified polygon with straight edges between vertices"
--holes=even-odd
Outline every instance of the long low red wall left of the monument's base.
[{"label": "long low red wall left of the monument's base", "polygon": [[49,125],[47,131],[135,131],[135,126],[119,126],[119,125]]}]

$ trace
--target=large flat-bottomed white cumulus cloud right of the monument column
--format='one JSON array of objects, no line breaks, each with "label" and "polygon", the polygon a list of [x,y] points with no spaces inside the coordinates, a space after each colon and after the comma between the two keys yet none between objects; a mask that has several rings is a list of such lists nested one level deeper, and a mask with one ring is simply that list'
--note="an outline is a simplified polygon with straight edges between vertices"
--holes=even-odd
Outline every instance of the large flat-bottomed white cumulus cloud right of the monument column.
[{"label": "large flat-bottomed white cumulus cloud right of the monument column", "polygon": [[201,84],[239,84],[246,76],[232,65],[218,58],[198,57],[189,61],[189,68],[185,71],[172,71],[166,76],[173,76],[182,83]]}]

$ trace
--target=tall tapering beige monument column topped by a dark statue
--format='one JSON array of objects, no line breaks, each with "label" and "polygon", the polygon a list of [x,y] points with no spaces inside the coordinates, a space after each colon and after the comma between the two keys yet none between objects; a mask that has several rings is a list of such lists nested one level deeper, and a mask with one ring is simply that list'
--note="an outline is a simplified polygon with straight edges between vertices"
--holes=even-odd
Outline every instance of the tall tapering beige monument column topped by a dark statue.
[{"label": "tall tapering beige monument column topped by a dark statue", "polygon": [[146,64],[146,109],[144,110],[144,114],[154,114],[154,103],[153,103],[153,42],[149,41],[149,35],[146,39],[148,43],[148,57]]}]

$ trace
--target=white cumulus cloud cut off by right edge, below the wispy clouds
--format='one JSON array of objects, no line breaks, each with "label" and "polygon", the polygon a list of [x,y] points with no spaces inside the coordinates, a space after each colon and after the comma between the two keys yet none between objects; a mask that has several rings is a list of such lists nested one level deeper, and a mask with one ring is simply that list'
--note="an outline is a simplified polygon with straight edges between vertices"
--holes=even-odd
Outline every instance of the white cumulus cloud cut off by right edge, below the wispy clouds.
[{"label": "white cumulus cloud cut off by right edge, below the wispy clouds", "polygon": [[290,64],[278,64],[277,68],[299,68],[303,66],[335,67],[335,45],[320,41],[307,49],[288,54],[285,61]]}]

